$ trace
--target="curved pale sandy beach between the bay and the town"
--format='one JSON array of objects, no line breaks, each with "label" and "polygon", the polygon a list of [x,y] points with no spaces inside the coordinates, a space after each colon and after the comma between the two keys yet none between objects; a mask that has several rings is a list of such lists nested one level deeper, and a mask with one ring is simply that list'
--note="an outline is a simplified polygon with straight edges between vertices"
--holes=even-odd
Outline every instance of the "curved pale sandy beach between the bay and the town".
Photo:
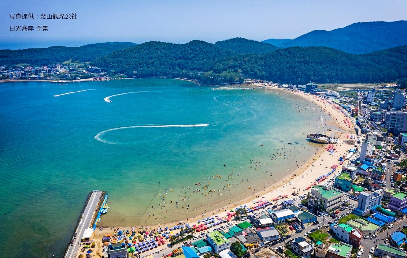
[{"label": "curved pale sandy beach between the bay and the town", "polygon": [[[253,85],[253,84],[250,84]],[[263,84],[254,84],[255,86],[261,86],[264,87]],[[184,222],[189,222],[190,225],[197,224],[197,221],[201,219],[202,217],[208,217],[208,216],[213,216],[213,215],[219,215],[221,217],[226,216],[227,212],[229,212],[230,209],[234,209],[237,206],[241,205],[247,205],[247,207],[252,207],[253,206],[253,201],[255,200],[269,200],[272,201],[274,198],[278,196],[283,196],[283,195],[288,195],[290,198],[291,193],[293,191],[298,192],[298,194],[304,194],[308,192],[306,190],[306,187],[313,184],[315,182],[315,179],[317,179],[319,176],[322,174],[327,174],[330,172],[330,167],[332,165],[338,165],[339,157],[343,156],[345,153],[347,153],[347,150],[352,148],[351,145],[344,144],[344,139],[347,139],[347,135],[356,135],[354,128],[349,128],[344,122],[343,119],[346,119],[347,117],[337,108],[335,108],[332,104],[329,104],[326,99],[322,99],[320,97],[314,96],[314,95],[309,95],[307,93],[302,93],[298,91],[291,91],[291,90],[286,90],[283,88],[277,88],[275,86],[266,86],[268,89],[267,90],[275,90],[275,91],[289,91],[291,94],[298,95],[304,99],[307,99],[308,101],[313,102],[314,104],[318,105],[324,112],[329,114],[333,118],[333,123],[330,122],[331,124],[326,124],[325,128],[332,128],[332,131],[326,132],[326,134],[331,134],[331,133],[337,133],[339,136],[339,144],[335,145],[336,147],[336,152],[333,154],[330,154],[330,152],[326,151],[326,145],[320,145],[317,147],[317,149],[313,148],[313,157],[309,159],[308,161],[304,161],[304,163],[301,161],[301,163],[297,164],[302,164],[302,165],[297,165],[297,168],[293,168],[293,173],[291,176],[288,176],[286,178],[278,178],[274,179],[273,182],[271,182],[270,186],[264,186],[264,188],[256,187],[256,189],[250,189],[247,192],[244,192],[242,194],[239,194],[238,196],[235,196],[232,198],[230,202],[221,202],[221,203],[212,203],[212,206],[207,206],[210,207],[208,211],[206,209],[201,208],[199,212],[201,212],[201,216],[188,216],[185,215],[183,218],[181,218],[182,221]],[[338,174],[338,172],[341,171],[341,166],[337,168],[337,172],[335,174]],[[332,174],[330,176],[333,177],[335,174]],[[263,198],[264,197],[264,198]],[[283,199],[284,200],[284,199]],[[233,204],[232,204],[233,202]],[[177,216],[178,217],[178,216]],[[177,219],[173,223],[165,223],[165,225],[154,225],[151,223],[151,221],[147,221],[147,225],[143,225],[144,227],[149,227],[150,229],[157,229],[158,227],[173,227],[177,225],[179,220]],[[143,223],[144,224],[144,223]],[[100,226],[103,226],[103,218],[101,223],[99,223]],[[120,227],[120,230],[122,229],[131,229],[131,227],[135,227],[137,225],[137,222],[135,221],[134,225],[129,225],[127,227]],[[138,228],[136,230],[139,230],[142,225],[138,225]],[[111,228],[114,228],[114,225],[105,225],[103,230],[98,230],[96,229],[96,234],[94,237],[94,240],[96,241],[97,247],[96,250],[99,250],[101,246],[101,238],[105,234],[112,234],[114,233],[114,230]],[[174,232],[176,233],[176,232]],[[163,248],[161,248],[163,249]],[[161,250],[160,249],[160,250]],[[145,252],[143,255],[148,255],[150,253],[155,252],[156,250],[151,250]],[[102,253],[99,251],[99,255]],[[97,254],[96,254],[97,255]]]}]

